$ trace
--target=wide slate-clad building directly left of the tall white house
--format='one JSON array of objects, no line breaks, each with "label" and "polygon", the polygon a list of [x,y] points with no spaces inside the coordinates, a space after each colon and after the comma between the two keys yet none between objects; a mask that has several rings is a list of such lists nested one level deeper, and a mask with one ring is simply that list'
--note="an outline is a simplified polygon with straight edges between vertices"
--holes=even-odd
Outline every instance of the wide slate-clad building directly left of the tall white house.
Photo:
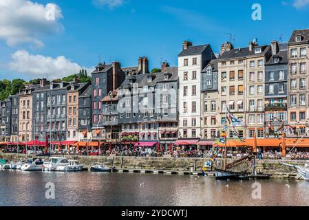
[{"label": "wide slate-clad building directly left of the tall white house", "polygon": [[160,141],[167,148],[178,137],[178,68],[163,63],[156,74],[147,68],[139,62],[138,71],[127,73],[119,88],[122,144],[159,146]]}]

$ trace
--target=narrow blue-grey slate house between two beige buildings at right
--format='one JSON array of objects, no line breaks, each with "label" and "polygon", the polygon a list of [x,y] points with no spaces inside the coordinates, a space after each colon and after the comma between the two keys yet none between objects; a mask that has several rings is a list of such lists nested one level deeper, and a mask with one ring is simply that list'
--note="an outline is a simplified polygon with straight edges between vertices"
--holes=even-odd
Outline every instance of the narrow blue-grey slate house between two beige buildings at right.
[{"label": "narrow blue-grey slate house between two beige buildings at right", "polygon": [[[278,135],[288,125],[288,44],[271,43],[272,56],[265,64],[266,136]],[[284,126],[284,127],[281,127]],[[279,133],[277,132],[278,130]]]}]

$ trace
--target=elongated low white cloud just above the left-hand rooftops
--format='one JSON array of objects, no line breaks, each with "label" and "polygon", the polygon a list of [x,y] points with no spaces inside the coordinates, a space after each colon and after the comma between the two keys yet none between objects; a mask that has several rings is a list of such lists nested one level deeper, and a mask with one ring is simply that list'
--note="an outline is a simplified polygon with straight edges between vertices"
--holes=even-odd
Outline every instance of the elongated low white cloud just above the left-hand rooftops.
[{"label": "elongated low white cloud just above the left-hand rooftops", "polygon": [[27,78],[46,77],[48,79],[63,78],[70,74],[76,74],[80,69],[87,69],[88,74],[90,74],[94,69],[94,67],[81,67],[81,65],[73,63],[65,56],[52,58],[50,56],[32,55],[25,50],[19,50],[12,54],[9,68]]}]

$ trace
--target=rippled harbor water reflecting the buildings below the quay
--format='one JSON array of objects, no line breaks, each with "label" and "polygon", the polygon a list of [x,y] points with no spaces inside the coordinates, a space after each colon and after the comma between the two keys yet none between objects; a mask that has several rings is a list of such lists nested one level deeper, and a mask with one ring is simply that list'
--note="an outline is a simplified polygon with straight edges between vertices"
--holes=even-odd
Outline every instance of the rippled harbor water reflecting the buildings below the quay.
[{"label": "rippled harbor water reflecting the buildings below the quay", "polygon": [[[49,184],[54,186],[54,199],[45,196]],[[0,170],[0,206],[308,205],[309,182],[300,180],[215,181],[191,175]]]}]

